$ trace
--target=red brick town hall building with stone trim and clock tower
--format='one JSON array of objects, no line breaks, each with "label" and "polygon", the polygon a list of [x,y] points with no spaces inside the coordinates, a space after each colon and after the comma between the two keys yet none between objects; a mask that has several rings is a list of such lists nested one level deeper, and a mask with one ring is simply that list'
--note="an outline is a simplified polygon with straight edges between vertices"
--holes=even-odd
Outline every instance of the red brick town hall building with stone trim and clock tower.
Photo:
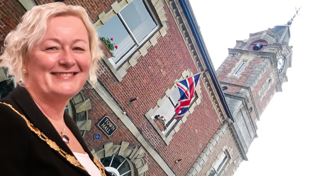
[{"label": "red brick town hall building with stone trim and clock tower", "polygon": [[[0,1],[1,46],[26,10],[53,1]],[[256,121],[287,81],[289,25],[237,41],[215,72],[188,0],[63,2],[86,8],[99,36],[118,46],[114,57],[102,55],[96,85],[87,82],[66,109],[107,170],[126,176],[232,176],[247,160]],[[188,112],[173,120],[174,83],[201,71]],[[5,72],[0,68],[2,97],[15,86],[7,85]],[[155,115],[165,117],[166,129]]]}]

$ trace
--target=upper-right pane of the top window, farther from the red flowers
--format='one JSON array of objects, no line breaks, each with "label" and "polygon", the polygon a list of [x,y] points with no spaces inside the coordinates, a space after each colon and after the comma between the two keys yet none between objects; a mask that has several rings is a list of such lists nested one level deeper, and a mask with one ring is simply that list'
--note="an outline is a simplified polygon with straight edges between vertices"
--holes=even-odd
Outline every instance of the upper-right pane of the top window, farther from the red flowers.
[{"label": "upper-right pane of the top window, farther from the red flowers", "polygon": [[120,14],[138,43],[156,27],[156,22],[150,16],[142,0],[133,0]]}]

